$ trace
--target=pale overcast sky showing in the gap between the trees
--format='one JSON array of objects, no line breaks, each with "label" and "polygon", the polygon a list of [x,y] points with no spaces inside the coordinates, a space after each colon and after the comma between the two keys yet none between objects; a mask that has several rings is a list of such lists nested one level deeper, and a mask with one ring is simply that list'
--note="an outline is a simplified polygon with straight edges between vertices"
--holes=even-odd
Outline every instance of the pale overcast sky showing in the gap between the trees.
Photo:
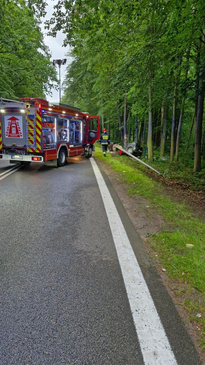
[{"label": "pale overcast sky showing in the gap between the trees", "polygon": [[[42,18],[42,32],[44,34],[44,41],[46,43],[46,45],[50,48],[51,54],[52,54],[52,60],[53,59],[62,59],[62,58],[67,58],[67,62],[66,65],[61,66],[60,68],[60,79],[61,79],[61,84],[63,82],[63,78],[66,74],[66,66],[69,62],[71,62],[71,58],[68,59],[68,57],[66,57],[66,53],[69,51],[70,47],[62,47],[63,44],[63,39],[65,38],[65,35],[62,32],[58,32],[56,35],[56,38],[53,37],[48,37],[46,35],[47,30],[44,29],[44,22],[47,19],[50,19],[52,16],[52,12],[53,12],[53,7],[54,5],[57,3],[57,0],[47,0],[47,15],[46,18]],[[58,71],[58,77],[59,77],[59,67],[57,66],[57,71]],[[61,92],[62,95],[62,92]],[[56,91],[54,89],[52,89],[52,96],[47,96],[48,101],[50,102],[58,102],[59,103],[59,91]]]}]

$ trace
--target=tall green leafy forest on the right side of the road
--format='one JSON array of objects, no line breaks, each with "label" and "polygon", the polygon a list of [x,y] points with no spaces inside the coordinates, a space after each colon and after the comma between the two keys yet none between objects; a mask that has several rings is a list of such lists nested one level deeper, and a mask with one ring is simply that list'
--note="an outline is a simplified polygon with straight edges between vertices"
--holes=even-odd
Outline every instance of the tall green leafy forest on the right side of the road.
[{"label": "tall green leafy forest on the right side of the road", "polygon": [[[150,161],[205,160],[203,0],[59,0],[47,22],[72,46],[63,102],[100,115],[111,141]],[[153,152],[154,151],[154,152]]]}]

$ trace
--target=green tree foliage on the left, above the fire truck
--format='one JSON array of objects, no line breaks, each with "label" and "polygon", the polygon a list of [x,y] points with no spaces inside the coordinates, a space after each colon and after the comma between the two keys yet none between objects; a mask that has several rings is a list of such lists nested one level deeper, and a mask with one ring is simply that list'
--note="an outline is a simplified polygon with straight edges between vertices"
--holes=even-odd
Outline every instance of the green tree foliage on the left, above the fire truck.
[{"label": "green tree foliage on the left, above the fire truck", "polygon": [[23,0],[2,0],[0,15],[0,96],[44,97],[58,80],[40,20]]}]

